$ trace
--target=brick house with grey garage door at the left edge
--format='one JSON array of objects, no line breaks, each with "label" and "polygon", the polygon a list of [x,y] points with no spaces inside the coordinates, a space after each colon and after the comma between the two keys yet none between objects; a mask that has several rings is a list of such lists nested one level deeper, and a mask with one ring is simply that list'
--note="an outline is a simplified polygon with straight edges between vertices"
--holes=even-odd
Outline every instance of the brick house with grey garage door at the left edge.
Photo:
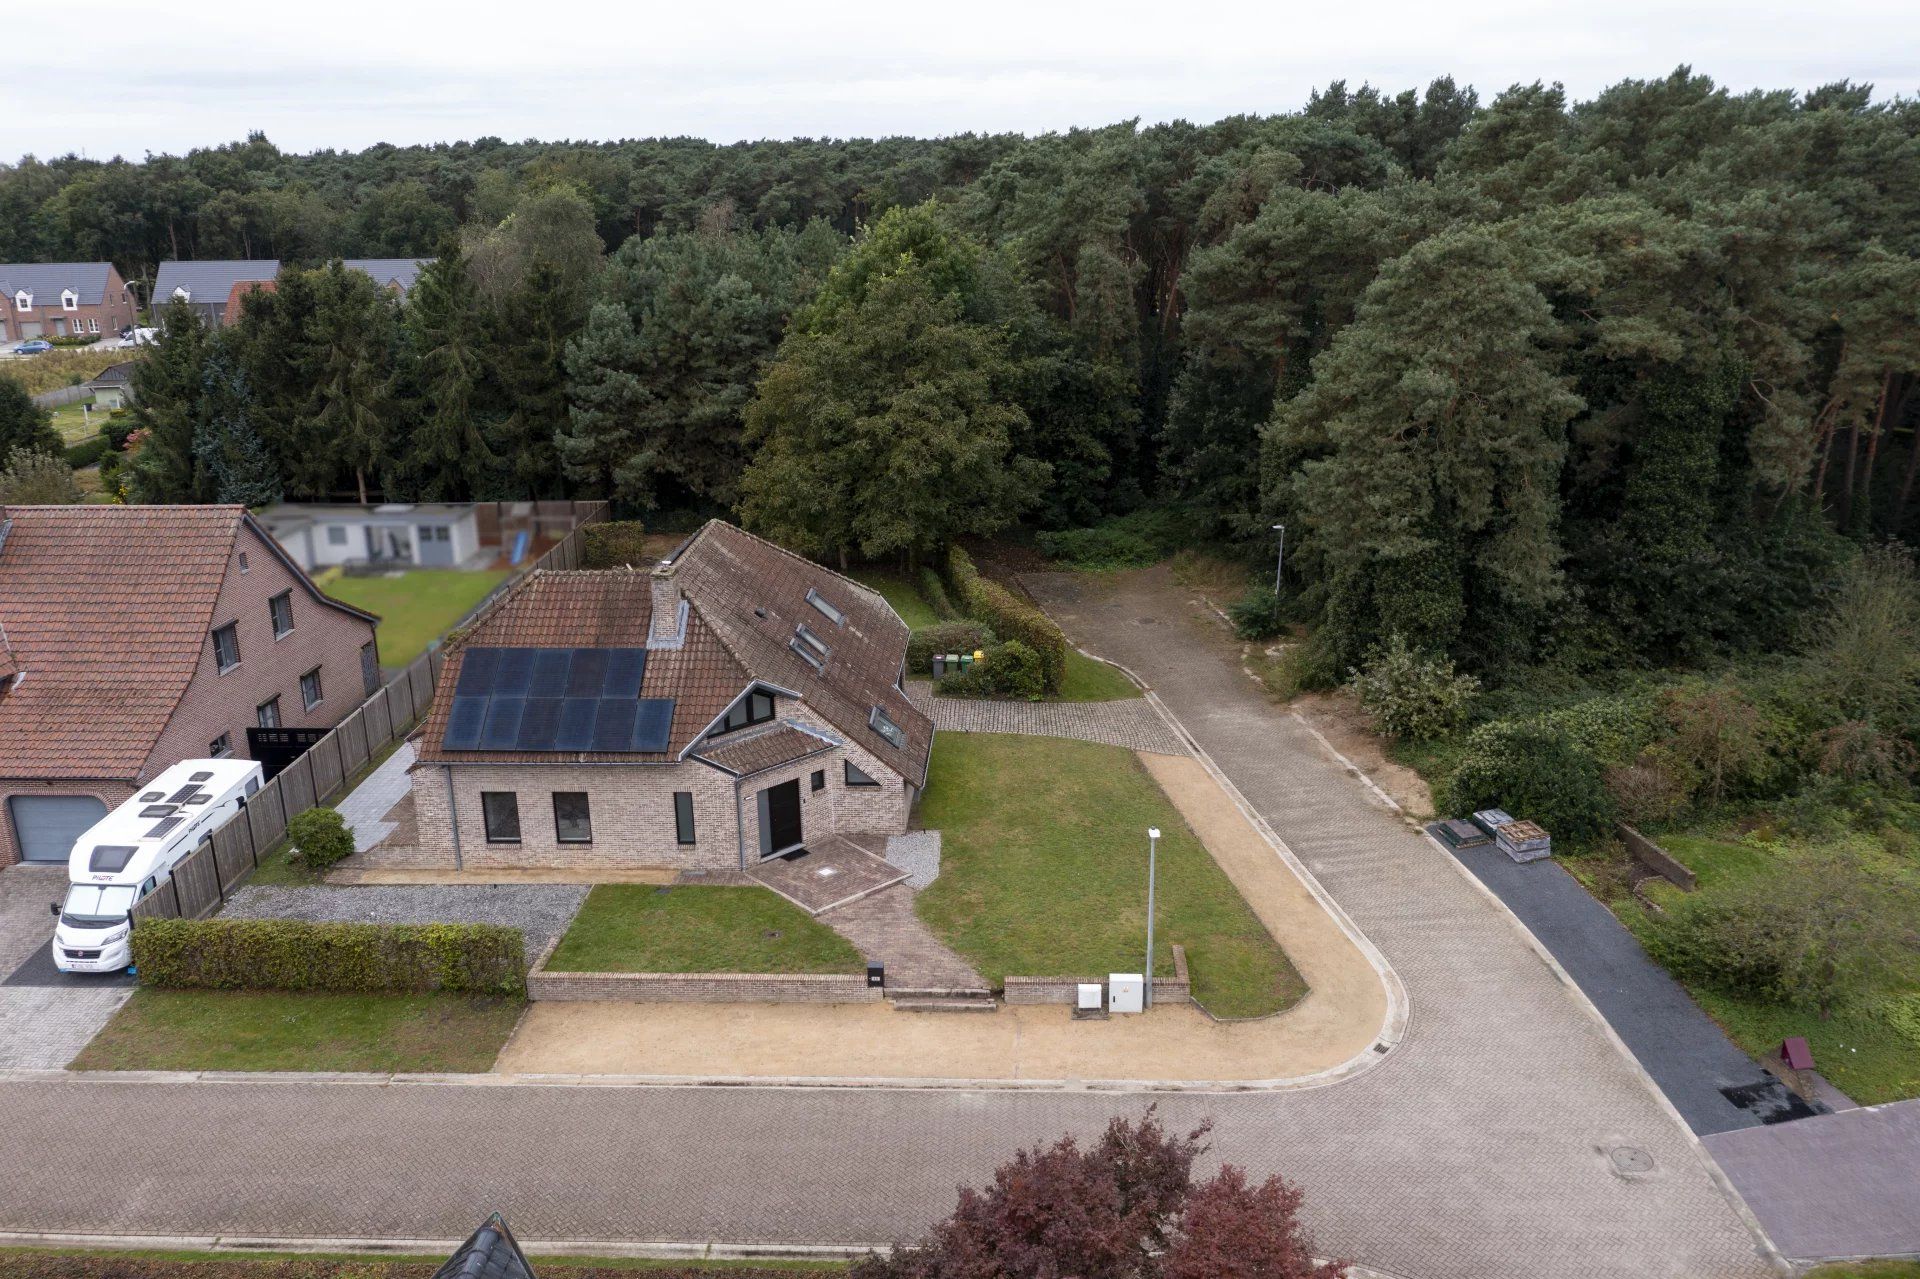
[{"label": "brick house with grey garage door at the left edge", "polygon": [[246,507],[0,507],[0,864],[65,860],[248,728],[332,728],[380,684],[376,620]]}]

